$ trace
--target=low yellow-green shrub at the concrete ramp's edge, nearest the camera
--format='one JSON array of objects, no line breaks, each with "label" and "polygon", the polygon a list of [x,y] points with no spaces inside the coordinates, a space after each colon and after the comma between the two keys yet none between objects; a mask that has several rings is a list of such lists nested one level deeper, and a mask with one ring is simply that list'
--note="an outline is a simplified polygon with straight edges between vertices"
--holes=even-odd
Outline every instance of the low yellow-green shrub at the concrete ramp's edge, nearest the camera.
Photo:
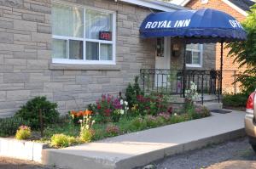
[{"label": "low yellow-green shrub at the concrete ramp's edge, nearest the camera", "polygon": [[65,134],[55,134],[50,138],[50,145],[56,148],[68,147],[77,143],[77,139]]}]

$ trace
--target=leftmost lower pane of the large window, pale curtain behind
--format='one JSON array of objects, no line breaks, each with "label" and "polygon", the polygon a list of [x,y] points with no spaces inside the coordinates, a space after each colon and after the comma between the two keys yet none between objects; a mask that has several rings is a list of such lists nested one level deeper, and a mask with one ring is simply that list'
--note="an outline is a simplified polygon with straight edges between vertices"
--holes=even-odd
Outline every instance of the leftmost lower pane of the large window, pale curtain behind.
[{"label": "leftmost lower pane of the large window, pale curtain behind", "polygon": [[53,58],[67,59],[67,41],[53,40]]}]

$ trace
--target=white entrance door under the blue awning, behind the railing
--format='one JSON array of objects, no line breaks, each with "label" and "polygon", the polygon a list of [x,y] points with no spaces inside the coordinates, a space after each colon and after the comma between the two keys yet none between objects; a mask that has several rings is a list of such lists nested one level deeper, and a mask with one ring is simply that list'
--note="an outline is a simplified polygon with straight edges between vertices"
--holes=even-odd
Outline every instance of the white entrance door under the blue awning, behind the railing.
[{"label": "white entrance door under the blue awning, behind the railing", "polygon": [[[158,39],[157,41],[157,54],[155,56],[156,74],[154,83],[155,87],[166,87],[167,76],[164,75],[165,71],[161,70],[169,70],[171,68],[171,37],[164,37],[164,39]],[[161,45],[163,45],[163,47]],[[163,54],[160,54],[161,51]]]}]

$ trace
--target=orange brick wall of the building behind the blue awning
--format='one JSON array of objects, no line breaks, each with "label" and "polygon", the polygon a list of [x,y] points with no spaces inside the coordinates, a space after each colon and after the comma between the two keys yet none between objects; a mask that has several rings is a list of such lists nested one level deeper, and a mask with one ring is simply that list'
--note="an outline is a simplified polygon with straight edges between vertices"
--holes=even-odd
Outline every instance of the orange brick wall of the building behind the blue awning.
[{"label": "orange brick wall of the building behind the blue awning", "polygon": [[[246,16],[242,15],[236,9],[231,8],[228,4],[224,3],[222,0],[208,0],[208,3],[201,3],[201,0],[191,0],[186,4],[187,8],[216,8],[218,10],[224,11],[227,14],[232,15],[238,21],[242,21],[246,19]],[[220,68],[220,44],[217,44],[212,49],[215,51],[212,53],[216,57],[215,68],[219,70]],[[212,50],[211,49],[211,50]],[[223,88],[224,92],[228,93],[236,93],[239,92],[239,84],[232,84],[236,75],[239,71],[246,70],[246,66],[238,69],[239,64],[233,63],[234,59],[227,57],[229,53],[229,49],[224,49],[224,74],[223,74]],[[235,71],[236,70],[236,71]]]}]

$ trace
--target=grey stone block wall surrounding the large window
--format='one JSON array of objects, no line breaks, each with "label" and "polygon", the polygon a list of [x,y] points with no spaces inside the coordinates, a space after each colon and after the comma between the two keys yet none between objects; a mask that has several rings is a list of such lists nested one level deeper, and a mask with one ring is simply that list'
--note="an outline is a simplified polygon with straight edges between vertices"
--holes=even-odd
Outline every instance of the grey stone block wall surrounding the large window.
[{"label": "grey stone block wall surrounding the large window", "polygon": [[148,8],[109,0],[69,3],[116,11],[117,65],[51,64],[51,1],[0,0],[0,116],[38,95],[56,102],[61,113],[77,104],[82,109],[102,93],[124,91],[141,68],[154,68],[155,40],[139,37]]}]

